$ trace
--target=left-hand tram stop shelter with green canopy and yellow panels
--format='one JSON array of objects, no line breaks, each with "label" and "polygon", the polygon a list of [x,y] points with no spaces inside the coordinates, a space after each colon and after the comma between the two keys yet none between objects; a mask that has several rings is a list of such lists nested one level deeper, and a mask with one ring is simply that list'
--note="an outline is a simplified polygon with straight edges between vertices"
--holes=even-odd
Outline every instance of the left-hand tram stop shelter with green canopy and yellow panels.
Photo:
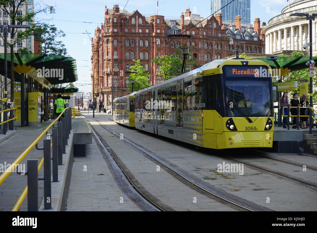
[{"label": "left-hand tram stop shelter with green canopy and yellow panels", "polygon": [[[15,125],[39,126],[42,110],[44,111],[42,120],[46,121],[49,117],[49,103],[51,99],[55,101],[55,96],[50,94],[49,87],[78,80],[76,60],[59,55],[15,53],[11,61],[8,54],[8,79],[11,78],[11,62],[14,63],[14,107],[17,108],[14,113],[17,116]],[[0,54],[0,74],[4,76],[4,53]],[[10,98],[9,95],[8,97]],[[0,116],[0,122],[2,119],[3,116]]]}]

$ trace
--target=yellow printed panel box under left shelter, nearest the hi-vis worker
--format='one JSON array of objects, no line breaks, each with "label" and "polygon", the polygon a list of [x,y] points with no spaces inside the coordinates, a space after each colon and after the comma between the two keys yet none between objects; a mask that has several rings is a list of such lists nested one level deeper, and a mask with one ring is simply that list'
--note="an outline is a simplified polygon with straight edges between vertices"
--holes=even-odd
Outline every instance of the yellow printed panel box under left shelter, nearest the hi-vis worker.
[{"label": "yellow printed panel box under left shelter, nearest the hi-vis worker", "polygon": [[39,126],[41,122],[41,92],[29,93],[29,126]]}]

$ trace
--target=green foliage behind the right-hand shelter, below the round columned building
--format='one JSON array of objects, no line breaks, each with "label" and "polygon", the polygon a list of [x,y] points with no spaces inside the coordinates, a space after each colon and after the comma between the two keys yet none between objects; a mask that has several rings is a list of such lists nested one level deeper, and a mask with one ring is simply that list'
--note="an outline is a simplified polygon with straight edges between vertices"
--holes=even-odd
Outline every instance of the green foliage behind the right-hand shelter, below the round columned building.
[{"label": "green foliage behind the right-hand shelter, below the round columned building", "polygon": [[[300,52],[292,52],[291,54],[292,57],[301,57],[301,56],[304,56],[303,53],[300,53]],[[286,55],[284,54],[281,54],[280,57],[287,57]],[[306,65],[305,65],[306,66]],[[317,73],[317,68],[315,67],[315,74]],[[309,68],[303,68],[301,70],[295,70],[295,71],[291,71],[291,72],[288,72],[286,75],[283,75],[281,76],[281,80],[282,82],[291,82],[291,81],[297,81],[297,91],[299,93],[299,81],[300,80],[305,80],[307,79],[308,80],[308,92],[310,90],[310,84],[309,84]],[[278,77],[273,77],[273,85],[277,85],[278,83]],[[317,78],[316,76],[313,78],[313,101],[314,103],[317,103],[317,90],[316,88],[314,87],[317,87]],[[307,94],[307,93],[299,93],[299,95],[302,95],[302,94]],[[308,98],[308,101],[309,101],[309,98]]]}]

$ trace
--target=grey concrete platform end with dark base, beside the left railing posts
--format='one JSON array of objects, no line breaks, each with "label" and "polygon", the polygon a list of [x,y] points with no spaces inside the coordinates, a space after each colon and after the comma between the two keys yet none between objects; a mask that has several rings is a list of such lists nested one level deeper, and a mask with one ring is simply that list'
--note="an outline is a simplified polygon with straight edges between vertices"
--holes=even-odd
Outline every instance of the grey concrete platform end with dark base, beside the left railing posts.
[{"label": "grey concrete platform end with dark base, beside the left railing posts", "polygon": [[91,144],[93,135],[84,116],[76,116],[73,119],[72,130],[74,132],[74,157],[86,157],[86,144]]}]

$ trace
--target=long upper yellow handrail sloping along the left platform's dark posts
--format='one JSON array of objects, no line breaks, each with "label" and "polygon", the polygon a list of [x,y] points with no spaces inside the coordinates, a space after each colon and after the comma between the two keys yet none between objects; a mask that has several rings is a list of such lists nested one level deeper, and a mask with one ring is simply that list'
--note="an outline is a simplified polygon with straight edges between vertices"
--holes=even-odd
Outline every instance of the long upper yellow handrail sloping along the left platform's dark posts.
[{"label": "long upper yellow handrail sloping along the left platform's dark posts", "polygon": [[[64,111],[62,111],[61,113],[64,113],[66,109],[68,109],[68,107],[65,108]],[[11,172],[15,170],[17,165],[22,161],[22,159],[24,159],[24,157],[30,152],[30,150],[32,150],[32,148],[39,142],[39,140],[41,140],[41,138],[45,135],[45,133],[49,130],[49,128],[52,127],[56,123],[56,121],[61,117],[61,115],[62,114],[60,114],[51,124],[49,124],[49,126],[47,126],[45,130],[31,143],[31,145],[29,145],[20,154],[20,156],[16,158],[16,160],[14,160],[13,163],[10,164],[7,170],[0,175],[0,185],[4,182],[6,178],[8,178]]]}]

